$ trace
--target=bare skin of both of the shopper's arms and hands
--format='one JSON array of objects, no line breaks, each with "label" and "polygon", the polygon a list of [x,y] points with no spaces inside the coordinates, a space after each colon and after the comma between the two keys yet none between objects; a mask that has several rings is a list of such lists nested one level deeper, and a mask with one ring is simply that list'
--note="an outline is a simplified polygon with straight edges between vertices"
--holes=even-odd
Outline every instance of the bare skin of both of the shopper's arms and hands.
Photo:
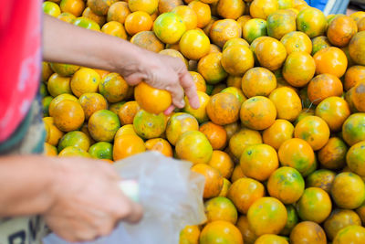
[{"label": "bare skin of both of the shopper's arms and hands", "polygon": [[[43,19],[45,60],[107,69],[120,73],[129,85],[144,80],[168,90],[172,106],[166,113],[174,106],[183,108],[184,92],[193,108],[199,107],[193,79],[179,58],[158,55],[51,16]],[[92,159],[1,156],[0,217],[42,215],[59,237],[71,242],[92,240],[109,234],[120,220],[134,223],[141,219],[141,206],[121,193],[119,182],[110,164]]]}]

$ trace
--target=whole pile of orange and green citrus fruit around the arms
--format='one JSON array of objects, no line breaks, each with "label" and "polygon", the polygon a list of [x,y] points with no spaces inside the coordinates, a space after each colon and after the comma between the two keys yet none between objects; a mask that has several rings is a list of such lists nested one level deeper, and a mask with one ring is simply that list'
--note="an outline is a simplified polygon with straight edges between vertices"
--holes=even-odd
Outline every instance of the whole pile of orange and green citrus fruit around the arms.
[{"label": "whole pile of orange and green citrus fruit around the arms", "polygon": [[365,243],[365,12],[325,16],[303,0],[43,6],[181,58],[201,104],[165,116],[166,90],[44,62],[46,154],[192,162],[207,221],[184,228],[181,244]]}]

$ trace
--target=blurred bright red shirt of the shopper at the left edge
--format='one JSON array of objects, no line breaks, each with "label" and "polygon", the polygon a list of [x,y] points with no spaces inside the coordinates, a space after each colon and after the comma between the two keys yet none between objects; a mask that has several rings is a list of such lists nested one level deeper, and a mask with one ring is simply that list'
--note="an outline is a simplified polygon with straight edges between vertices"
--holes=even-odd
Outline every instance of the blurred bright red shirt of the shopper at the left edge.
[{"label": "blurred bright red shirt of the shopper at the left edge", "polygon": [[41,72],[41,0],[0,0],[0,142],[24,119]]}]

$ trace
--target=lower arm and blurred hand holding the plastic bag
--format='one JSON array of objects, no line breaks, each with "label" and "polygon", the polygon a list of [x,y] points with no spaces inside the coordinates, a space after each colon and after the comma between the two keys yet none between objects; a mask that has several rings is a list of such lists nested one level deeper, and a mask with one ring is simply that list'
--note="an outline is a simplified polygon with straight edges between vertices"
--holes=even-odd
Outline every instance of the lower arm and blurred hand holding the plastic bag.
[{"label": "lower arm and blurred hand holding the plastic bag", "polygon": [[91,159],[1,156],[0,217],[39,214],[64,239],[95,239],[141,218],[119,181],[110,164]]}]

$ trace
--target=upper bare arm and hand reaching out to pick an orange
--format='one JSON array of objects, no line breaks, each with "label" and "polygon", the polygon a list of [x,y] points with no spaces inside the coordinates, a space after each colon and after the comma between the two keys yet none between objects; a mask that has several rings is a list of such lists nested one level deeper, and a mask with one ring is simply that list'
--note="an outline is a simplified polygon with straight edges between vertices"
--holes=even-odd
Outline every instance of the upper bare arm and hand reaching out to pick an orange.
[{"label": "upper bare arm and hand reaching out to pick an orange", "polygon": [[[119,37],[69,25],[44,16],[44,59],[120,73],[130,85],[142,80],[172,93],[172,103],[183,108],[183,94],[193,108],[199,99],[183,61],[139,48]],[[184,91],[184,92],[183,92]]]}]

